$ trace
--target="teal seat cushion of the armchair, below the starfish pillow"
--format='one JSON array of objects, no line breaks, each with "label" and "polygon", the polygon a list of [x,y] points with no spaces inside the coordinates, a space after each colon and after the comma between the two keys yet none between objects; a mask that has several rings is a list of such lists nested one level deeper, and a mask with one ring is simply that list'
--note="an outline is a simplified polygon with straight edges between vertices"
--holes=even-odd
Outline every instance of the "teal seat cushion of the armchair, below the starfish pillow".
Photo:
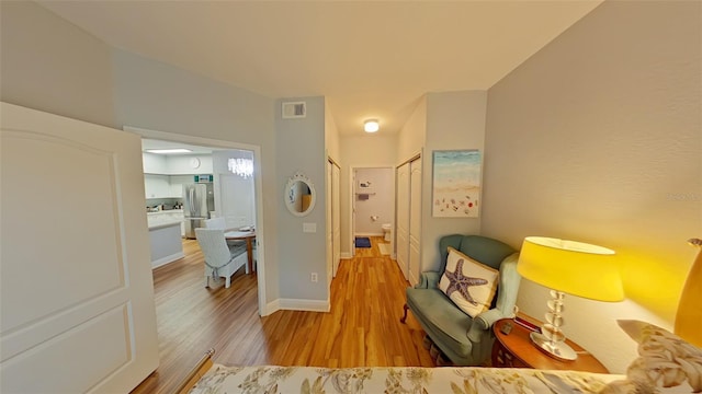
[{"label": "teal seat cushion of the armchair, below the starfish pillow", "polygon": [[473,318],[441,290],[407,288],[407,305],[435,344],[450,347],[461,357],[471,355],[473,344],[466,334]]}]

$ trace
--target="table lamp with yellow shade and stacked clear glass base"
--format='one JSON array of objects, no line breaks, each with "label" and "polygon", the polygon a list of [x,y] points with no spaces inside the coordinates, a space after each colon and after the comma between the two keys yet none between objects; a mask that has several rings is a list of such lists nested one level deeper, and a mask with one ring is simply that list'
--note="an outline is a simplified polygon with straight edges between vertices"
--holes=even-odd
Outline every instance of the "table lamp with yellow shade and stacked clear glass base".
[{"label": "table lamp with yellow shade and stacked clear glass base", "polygon": [[624,291],[614,251],[581,242],[552,237],[524,239],[517,264],[524,278],[551,290],[546,323],[541,333],[531,333],[532,343],[541,350],[561,360],[575,360],[578,356],[568,344],[561,327],[565,324],[565,293],[597,301],[622,301]]}]

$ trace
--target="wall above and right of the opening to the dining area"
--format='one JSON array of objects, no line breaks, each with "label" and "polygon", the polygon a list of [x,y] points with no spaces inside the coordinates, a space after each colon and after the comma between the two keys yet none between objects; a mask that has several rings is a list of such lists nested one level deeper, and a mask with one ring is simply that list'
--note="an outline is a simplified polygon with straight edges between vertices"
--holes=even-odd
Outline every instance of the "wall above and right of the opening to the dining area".
[{"label": "wall above and right of the opening to the dining area", "polygon": [[[0,99],[106,125],[261,147],[267,299],[279,298],[274,101],[101,43],[32,2],[0,2]],[[270,196],[270,197],[269,197]]]}]

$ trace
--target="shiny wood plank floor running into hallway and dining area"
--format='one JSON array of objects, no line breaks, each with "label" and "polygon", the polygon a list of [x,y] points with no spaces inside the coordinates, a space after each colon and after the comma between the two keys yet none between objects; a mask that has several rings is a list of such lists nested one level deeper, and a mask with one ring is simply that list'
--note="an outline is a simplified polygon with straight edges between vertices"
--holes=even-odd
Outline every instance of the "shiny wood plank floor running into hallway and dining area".
[{"label": "shiny wood plank floor running into hallway and dining area", "polygon": [[331,283],[331,311],[258,315],[256,275],[237,271],[204,287],[203,256],[184,241],[185,257],[154,270],[160,366],[133,393],[171,393],[208,348],[228,366],[434,367],[421,346],[423,331],[405,303],[395,260],[381,255],[382,237],[341,260]]}]

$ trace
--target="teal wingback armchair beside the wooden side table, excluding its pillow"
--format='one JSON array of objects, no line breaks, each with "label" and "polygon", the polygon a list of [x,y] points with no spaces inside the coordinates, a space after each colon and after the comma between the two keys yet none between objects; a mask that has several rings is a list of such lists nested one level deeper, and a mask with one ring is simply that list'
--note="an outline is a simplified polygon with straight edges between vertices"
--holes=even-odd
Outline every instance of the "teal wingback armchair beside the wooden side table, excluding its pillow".
[{"label": "teal wingback armchair beside the wooden side table, excluding its pillow", "polygon": [[[439,289],[448,247],[499,269],[499,283],[491,309],[471,317]],[[456,366],[480,366],[490,356],[495,335],[492,324],[512,317],[521,281],[517,273],[519,254],[511,246],[480,235],[445,235],[439,241],[441,266],[438,271],[424,271],[420,282],[407,288],[405,323],[410,310],[433,344]]]}]

